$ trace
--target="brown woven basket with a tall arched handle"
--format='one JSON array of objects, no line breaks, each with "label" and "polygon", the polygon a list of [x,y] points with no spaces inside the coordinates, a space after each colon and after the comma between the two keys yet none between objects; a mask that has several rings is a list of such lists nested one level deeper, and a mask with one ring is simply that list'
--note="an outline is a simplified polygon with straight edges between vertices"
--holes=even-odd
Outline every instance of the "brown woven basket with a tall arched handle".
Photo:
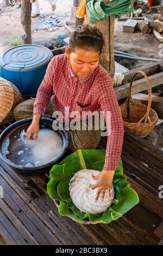
[{"label": "brown woven basket with a tall arched handle", "polygon": [[[140,102],[135,102],[131,97],[133,82],[137,74],[143,75],[147,80],[149,95],[148,106],[143,105]],[[151,108],[151,101],[152,93],[149,79],[143,71],[137,71],[130,82],[129,96],[120,108],[124,127],[142,138],[146,137],[154,129],[154,126],[158,121],[158,114]]]}]

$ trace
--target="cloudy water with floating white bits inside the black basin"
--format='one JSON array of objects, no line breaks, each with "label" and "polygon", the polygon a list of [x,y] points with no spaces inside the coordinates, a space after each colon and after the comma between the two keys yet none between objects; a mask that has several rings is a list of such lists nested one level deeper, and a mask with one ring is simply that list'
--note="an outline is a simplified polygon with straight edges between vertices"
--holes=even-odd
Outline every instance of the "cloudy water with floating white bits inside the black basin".
[{"label": "cloudy water with floating white bits inside the black basin", "polygon": [[[29,125],[28,125],[29,126]],[[39,167],[57,157],[63,147],[60,133],[52,126],[40,125],[37,140],[26,138],[28,126],[11,131],[2,143],[2,154],[12,163],[23,167]]]}]

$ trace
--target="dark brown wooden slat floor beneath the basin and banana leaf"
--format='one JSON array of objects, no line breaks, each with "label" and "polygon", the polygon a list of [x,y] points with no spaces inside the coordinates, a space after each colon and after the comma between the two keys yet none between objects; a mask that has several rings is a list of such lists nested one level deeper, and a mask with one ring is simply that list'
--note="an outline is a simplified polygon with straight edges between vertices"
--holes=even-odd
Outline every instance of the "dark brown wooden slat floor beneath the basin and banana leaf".
[{"label": "dark brown wooden slat floor beneath the basin and banana leaf", "polygon": [[[98,148],[106,148],[102,138]],[[68,154],[68,153],[67,153]],[[157,245],[162,243],[163,153],[145,139],[126,132],[124,174],[140,203],[110,224],[81,225],[60,216],[48,197],[48,175],[17,174],[0,160],[0,243],[4,245]]]}]

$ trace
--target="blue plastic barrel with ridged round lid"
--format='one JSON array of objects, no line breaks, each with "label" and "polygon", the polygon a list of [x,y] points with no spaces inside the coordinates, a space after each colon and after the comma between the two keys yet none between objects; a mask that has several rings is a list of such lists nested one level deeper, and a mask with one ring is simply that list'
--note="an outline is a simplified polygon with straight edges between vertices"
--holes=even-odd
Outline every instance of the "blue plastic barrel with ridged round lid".
[{"label": "blue plastic barrel with ridged round lid", "polygon": [[0,59],[0,76],[14,83],[24,97],[35,96],[52,58],[45,46],[12,47]]}]

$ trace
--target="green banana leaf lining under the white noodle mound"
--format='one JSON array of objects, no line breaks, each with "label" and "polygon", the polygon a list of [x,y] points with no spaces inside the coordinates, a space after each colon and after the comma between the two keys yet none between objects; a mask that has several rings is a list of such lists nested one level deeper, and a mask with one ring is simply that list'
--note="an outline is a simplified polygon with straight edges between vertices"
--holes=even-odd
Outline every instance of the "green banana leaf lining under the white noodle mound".
[{"label": "green banana leaf lining under the white noodle mound", "polygon": [[82,149],[65,157],[59,164],[55,164],[50,172],[51,180],[47,184],[47,191],[53,200],[59,201],[59,214],[68,216],[79,223],[110,223],[117,220],[128,210],[139,203],[137,193],[130,187],[123,175],[120,160],[114,174],[115,203],[101,214],[88,214],[80,211],[72,202],[69,193],[69,183],[80,169],[95,169],[101,171],[105,162],[105,150]]}]

